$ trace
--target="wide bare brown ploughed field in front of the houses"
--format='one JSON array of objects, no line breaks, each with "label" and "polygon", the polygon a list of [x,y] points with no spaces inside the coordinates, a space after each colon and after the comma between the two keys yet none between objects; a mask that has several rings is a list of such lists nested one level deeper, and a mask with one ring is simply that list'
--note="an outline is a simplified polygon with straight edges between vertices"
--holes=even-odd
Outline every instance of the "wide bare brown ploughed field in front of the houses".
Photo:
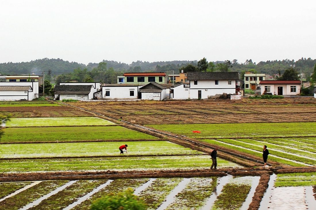
[{"label": "wide bare brown ploughed field in front of the houses", "polygon": [[76,102],[73,105],[137,124],[314,122],[316,99]]}]

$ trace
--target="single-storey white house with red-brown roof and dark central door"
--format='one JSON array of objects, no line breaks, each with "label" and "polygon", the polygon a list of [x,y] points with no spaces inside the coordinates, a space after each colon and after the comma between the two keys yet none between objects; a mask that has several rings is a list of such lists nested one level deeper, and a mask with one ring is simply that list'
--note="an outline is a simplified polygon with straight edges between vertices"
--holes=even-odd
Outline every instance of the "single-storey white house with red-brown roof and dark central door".
[{"label": "single-storey white house with red-brown roof and dark central door", "polygon": [[259,83],[261,95],[272,93],[272,95],[298,95],[301,93],[301,81],[264,80]]}]

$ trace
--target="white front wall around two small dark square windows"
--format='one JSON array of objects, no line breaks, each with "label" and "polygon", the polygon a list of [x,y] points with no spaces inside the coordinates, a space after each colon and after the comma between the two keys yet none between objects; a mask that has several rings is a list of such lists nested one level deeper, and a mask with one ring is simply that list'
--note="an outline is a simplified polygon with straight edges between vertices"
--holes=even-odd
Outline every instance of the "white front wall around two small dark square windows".
[{"label": "white front wall around two small dark square windows", "polygon": [[[106,91],[110,91],[110,96],[105,96]],[[130,91],[134,91],[134,96],[130,96]],[[137,86],[102,87],[103,99],[137,99],[137,96]]]}]

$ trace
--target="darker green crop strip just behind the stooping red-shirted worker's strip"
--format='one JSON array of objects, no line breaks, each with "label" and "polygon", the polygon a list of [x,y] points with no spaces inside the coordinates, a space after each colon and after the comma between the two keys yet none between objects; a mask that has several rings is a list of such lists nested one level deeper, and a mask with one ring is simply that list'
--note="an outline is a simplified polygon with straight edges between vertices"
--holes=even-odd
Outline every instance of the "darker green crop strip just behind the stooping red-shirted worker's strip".
[{"label": "darker green crop strip just behind the stooping red-shirted worker's strip", "polygon": [[121,126],[6,128],[3,129],[1,136],[1,142],[127,139],[156,139],[156,137]]}]

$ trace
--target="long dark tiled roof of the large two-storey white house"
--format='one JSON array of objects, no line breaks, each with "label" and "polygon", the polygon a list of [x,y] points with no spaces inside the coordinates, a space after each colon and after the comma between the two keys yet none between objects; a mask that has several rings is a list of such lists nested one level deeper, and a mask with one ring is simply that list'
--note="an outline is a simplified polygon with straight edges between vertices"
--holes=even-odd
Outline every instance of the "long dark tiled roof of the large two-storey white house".
[{"label": "long dark tiled roof of the large two-storey white house", "polygon": [[238,72],[187,72],[188,80],[238,80]]}]

